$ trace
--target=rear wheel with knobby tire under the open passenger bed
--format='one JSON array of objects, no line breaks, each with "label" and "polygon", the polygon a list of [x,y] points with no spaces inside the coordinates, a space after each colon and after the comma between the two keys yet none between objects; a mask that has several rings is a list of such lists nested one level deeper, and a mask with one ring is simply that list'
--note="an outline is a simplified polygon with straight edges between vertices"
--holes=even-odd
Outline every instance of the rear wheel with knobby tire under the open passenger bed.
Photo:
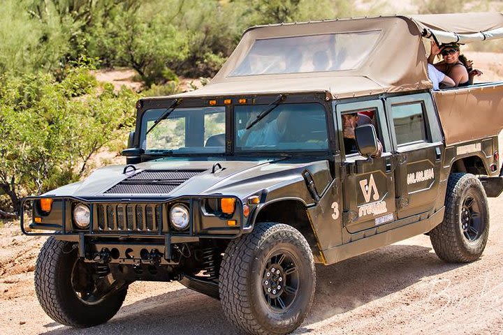
[{"label": "rear wheel with knobby tire under the open passenger bed", "polygon": [[446,262],[477,260],[489,236],[486,191],[473,174],[453,173],[449,177],[444,221],[430,232],[432,246]]}]

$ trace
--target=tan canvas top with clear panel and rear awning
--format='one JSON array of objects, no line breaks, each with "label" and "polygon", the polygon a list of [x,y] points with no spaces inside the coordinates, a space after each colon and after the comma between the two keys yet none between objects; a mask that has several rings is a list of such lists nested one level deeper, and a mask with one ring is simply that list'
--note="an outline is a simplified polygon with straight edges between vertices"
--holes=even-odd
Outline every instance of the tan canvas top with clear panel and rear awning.
[{"label": "tan canvas top with clear panel and rear awning", "polygon": [[[423,37],[446,43],[502,36],[500,13],[252,27],[210,84],[176,97],[324,91],[331,98],[347,98],[430,89]],[[315,64],[319,54],[326,62],[322,70]]]}]

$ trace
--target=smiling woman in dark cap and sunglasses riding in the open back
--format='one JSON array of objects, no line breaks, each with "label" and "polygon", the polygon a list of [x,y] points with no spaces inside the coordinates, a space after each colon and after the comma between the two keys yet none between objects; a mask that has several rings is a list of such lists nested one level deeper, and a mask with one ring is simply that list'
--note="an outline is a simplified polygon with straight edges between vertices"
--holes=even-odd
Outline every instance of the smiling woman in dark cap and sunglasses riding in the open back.
[{"label": "smiling woman in dark cap and sunglasses riding in the open back", "polygon": [[[435,57],[441,54],[443,60],[433,64]],[[458,43],[447,43],[440,47],[437,43],[431,43],[430,57],[428,63],[433,64],[437,70],[441,71],[455,83],[455,87],[464,87],[473,84],[474,77],[481,75],[482,71],[472,68],[473,61],[467,60],[464,54],[460,54]]]}]

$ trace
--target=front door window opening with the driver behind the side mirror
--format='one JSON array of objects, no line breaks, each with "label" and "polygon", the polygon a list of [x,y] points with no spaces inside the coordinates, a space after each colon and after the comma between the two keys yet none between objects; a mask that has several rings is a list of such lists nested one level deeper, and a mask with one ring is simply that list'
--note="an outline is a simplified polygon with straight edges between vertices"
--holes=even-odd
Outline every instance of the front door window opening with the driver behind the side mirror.
[{"label": "front door window opening with the driver behind the side mirror", "polygon": [[377,126],[377,108],[365,108],[361,110],[349,110],[342,113],[342,137],[344,140],[344,152],[346,155],[358,154],[358,147],[354,138],[354,128],[364,124],[372,124],[376,129],[377,138],[382,142],[382,135]]}]

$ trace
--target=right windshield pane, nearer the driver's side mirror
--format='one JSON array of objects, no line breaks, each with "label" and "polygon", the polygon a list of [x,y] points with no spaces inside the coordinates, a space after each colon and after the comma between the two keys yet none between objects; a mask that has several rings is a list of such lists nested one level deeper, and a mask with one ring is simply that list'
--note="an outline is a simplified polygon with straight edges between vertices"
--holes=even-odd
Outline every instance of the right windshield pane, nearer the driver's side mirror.
[{"label": "right windshield pane, nearer the driver's side mirror", "polygon": [[326,112],[318,103],[278,105],[246,129],[267,105],[235,106],[235,151],[321,151],[328,149]]}]

